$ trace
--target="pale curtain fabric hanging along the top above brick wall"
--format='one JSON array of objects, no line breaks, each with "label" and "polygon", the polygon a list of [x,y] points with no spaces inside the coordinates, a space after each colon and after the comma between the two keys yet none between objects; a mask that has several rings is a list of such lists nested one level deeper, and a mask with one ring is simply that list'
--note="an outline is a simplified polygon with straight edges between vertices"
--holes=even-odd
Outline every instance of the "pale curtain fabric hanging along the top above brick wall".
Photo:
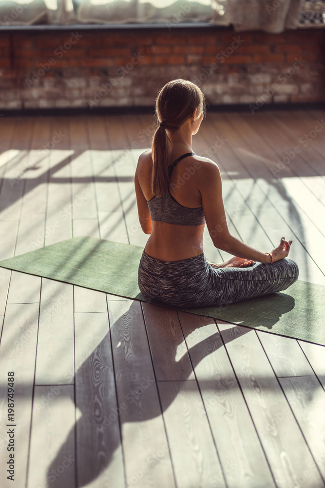
[{"label": "pale curtain fabric hanging along the top above brick wall", "polygon": [[[309,2],[310,3],[310,2]],[[0,0],[0,25],[203,22],[283,32],[299,25],[305,0]]]}]

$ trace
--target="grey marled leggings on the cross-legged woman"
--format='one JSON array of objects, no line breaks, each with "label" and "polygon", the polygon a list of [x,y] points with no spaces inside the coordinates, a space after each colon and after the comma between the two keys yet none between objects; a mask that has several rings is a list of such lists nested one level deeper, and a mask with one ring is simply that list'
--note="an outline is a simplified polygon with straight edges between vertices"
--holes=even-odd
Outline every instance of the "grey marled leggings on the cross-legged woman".
[{"label": "grey marled leggings on the cross-legged woman", "polygon": [[299,274],[285,258],[247,268],[214,268],[204,253],[179,261],[160,261],[143,250],[138,285],[152,302],[174,307],[228,305],[286,290]]}]

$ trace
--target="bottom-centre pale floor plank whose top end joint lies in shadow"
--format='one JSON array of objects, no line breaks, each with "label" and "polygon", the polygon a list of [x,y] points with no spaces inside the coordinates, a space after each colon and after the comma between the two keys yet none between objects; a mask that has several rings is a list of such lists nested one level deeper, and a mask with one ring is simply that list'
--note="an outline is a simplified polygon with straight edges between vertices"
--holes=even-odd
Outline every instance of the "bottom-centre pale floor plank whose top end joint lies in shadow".
[{"label": "bottom-centre pale floor plank whose top end joint lies in shadow", "polygon": [[[178,488],[225,487],[222,469],[195,381],[160,381],[159,396]],[[168,447],[161,447],[168,456]],[[158,455],[158,453],[157,453]]]}]

